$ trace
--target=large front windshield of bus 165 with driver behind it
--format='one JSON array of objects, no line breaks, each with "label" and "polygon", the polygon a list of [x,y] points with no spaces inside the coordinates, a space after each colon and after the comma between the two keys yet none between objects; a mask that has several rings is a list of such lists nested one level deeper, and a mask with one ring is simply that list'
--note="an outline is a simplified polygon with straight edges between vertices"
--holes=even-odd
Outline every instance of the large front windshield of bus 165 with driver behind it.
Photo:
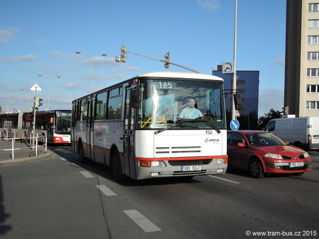
[{"label": "large front windshield of bus 165 with driver behind it", "polygon": [[137,128],[167,128],[174,124],[194,128],[226,127],[221,82],[141,79],[140,89],[142,104]]}]

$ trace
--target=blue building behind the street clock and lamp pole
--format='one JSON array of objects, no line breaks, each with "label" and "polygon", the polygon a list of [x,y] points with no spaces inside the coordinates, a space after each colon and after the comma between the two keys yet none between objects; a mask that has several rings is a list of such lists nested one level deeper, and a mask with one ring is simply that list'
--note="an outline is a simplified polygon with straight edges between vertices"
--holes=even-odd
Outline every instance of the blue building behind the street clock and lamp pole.
[{"label": "blue building behind the street clock and lamp pole", "polygon": [[[217,70],[212,71],[213,76],[219,76],[224,79],[224,89],[230,93],[232,89],[233,74],[223,74],[222,66],[218,65]],[[259,71],[236,70],[237,80],[236,89],[241,97],[242,108],[239,113],[248,115],[251,111],[256,111],[258,115],[259,98]],[[228,90],[228,91],[227,91]],[[225,98],[225,105],[228,111],[231,111],[231,94]]]}]

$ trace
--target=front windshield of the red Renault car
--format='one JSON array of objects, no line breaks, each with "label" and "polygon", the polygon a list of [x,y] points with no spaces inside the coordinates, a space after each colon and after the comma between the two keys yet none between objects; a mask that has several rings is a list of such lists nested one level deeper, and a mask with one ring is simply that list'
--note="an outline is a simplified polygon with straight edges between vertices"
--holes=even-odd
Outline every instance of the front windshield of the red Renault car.
[{"label": "front windshield of the red Renault car", "polygon": [[252,146],[286,146],[286,143],[274,134],[249,133],[245,135]]}]

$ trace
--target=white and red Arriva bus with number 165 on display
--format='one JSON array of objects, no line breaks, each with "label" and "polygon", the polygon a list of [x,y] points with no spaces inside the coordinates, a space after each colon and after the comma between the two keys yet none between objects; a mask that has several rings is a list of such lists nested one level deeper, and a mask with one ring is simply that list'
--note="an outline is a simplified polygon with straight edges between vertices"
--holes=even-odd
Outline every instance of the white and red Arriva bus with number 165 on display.
[{"label": "white and red Arriva bus with number 165 on display", "polygon": [[[78,98],[72,102],[72,150],[81,162],[107,165],[118,179],[223,175],[223,90],[217,76],[159,71]],[[203,116],[179,119],[189,99]]]}]

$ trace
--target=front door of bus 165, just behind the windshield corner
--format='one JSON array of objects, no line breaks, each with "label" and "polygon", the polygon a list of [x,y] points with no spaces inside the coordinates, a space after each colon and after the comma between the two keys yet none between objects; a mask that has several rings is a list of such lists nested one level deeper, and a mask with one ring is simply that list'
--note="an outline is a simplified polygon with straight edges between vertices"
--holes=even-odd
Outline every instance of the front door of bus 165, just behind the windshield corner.
[{"label": "front door of bus 165, just behind the windshield corner", "polygon": [[124,112],[124,169],[125,175],[136,178],[135,161],[134,161],[134,109],[131,107],[131,92],[134,86],[126,88],[125,91],[125,112]]}]

